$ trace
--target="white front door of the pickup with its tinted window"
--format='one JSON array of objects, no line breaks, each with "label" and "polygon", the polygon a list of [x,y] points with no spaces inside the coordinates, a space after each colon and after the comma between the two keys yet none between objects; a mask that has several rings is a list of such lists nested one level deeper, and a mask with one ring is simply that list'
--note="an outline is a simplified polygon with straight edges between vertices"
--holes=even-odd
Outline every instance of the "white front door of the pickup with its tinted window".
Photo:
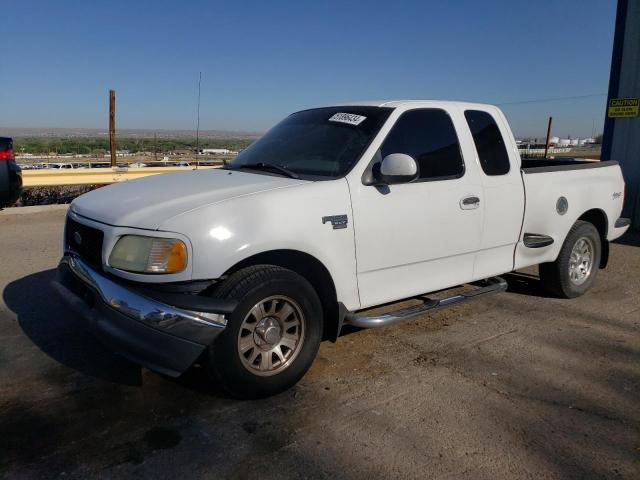
[{"label": "white front door of the pickup with its tinted window", "polygon": [[362,308],[471,280],[482,185],[463,160],[461,122],[455,108],[401,113],[368,168],[404,153],[418,163],[419,178],[389,186],[349,179]]}]

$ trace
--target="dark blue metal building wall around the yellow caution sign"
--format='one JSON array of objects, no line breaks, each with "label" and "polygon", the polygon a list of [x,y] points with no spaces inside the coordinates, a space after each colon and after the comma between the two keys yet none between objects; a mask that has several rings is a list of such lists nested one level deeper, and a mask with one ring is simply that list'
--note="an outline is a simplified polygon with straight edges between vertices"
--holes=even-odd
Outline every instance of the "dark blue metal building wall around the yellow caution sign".
[{"label": "dark blue metal building wall around the yellow caution sign", "polygon": [[[609,94],[612,98],[640,97],[640,0],[618,0],[611,58]],[[602,159],[620,162],[627,196],[623,216],[640,229],[640,117],[609,118],[604,125]]]}]

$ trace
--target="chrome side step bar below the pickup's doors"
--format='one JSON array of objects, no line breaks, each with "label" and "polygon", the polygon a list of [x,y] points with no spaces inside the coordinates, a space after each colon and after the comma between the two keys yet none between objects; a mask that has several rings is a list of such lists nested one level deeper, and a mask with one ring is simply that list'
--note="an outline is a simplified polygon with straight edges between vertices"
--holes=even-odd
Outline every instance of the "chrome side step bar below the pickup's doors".
[{"label": "chrome side step bar below the pickup's doors", "polygon": [[415,317],[416,315],[457,305],[458,303],[478,298],[483,295],[504,292],[507,289],[507,281],[502,277],[492,277],[484,280],[483,283],[484,286],[478,287],[469,292],[460,293],[440,300],[427,298],[425,302],[420,305],[394,310],[382,315],[367,317],[349,312],[345,316],[344,324],[360,328],[388,327],[389,325],[394,325],[402,322],[403,320],[407,320],[408,318]]}]

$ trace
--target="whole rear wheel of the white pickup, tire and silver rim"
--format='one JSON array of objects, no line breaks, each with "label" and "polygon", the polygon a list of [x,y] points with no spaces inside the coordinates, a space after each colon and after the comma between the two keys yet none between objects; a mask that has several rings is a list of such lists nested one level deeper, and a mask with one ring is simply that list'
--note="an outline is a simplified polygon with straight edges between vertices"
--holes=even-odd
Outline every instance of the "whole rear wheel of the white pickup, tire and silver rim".
[{"label": "whole rear wheel of the white pickup, tire and silver rim", "polygon": [[602,242],[596,227],[578,220],[569,233],[555,262],[540,265],[540,280],[549,292],[575,298],[589,290],[595,281]]}]

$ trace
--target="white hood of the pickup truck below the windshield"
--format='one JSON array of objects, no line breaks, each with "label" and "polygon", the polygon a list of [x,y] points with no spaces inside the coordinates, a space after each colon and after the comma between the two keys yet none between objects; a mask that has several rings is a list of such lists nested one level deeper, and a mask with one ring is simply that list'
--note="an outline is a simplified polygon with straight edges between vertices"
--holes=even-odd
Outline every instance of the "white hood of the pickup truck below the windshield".
[{"label": "white hood of the pickup truck below the windshield", "polygon": [[165,220],[195,208],[303,183],[248,172],[194,170],[99,188],[76,198],[71,209],[109,225],[157,230]]}]

